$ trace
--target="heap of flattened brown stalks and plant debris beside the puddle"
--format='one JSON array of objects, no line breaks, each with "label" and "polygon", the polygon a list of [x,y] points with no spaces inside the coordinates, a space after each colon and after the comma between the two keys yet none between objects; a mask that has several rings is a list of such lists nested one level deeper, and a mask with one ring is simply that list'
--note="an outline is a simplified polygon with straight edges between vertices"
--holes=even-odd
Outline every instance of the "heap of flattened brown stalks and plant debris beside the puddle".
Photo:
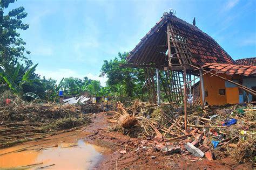
[{"label": "heap of flattened brown stalks and plant debris beside the puddle", "polygon": [[25,102],[9,96],[0,106],[0,148],[24,141],[44,140],[60,130],[70,131],[91,122],[75,105]]}]

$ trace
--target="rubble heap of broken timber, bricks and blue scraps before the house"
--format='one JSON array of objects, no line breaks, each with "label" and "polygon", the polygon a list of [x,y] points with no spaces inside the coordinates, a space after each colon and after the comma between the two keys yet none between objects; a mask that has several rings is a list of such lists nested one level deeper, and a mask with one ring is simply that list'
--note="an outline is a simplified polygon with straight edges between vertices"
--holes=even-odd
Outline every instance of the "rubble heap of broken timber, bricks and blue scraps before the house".
[{"label": "rubble heap of broken timber, bricks and blue scraps before the house", "polygon": [[119,128],[112,130],[129,131],[126,134],[139,133],[137,136],[142,137],[142,147],[153,145],[167,155],[193,155],[197,157],[193,158],[194,161],[203,157],[213,160],[228,156],[238,163],[254,161],[256,109],[252,105],[187,108],[186,130],[182,105],[167,103],[156,107],[135,101],[129,108],[123,107],[122,103],[117,106],[118,114],[114,119],[122,119],[123,116],[120,115],[126,112],[137,123],[135,126],[123,126],[119,123]]}]

